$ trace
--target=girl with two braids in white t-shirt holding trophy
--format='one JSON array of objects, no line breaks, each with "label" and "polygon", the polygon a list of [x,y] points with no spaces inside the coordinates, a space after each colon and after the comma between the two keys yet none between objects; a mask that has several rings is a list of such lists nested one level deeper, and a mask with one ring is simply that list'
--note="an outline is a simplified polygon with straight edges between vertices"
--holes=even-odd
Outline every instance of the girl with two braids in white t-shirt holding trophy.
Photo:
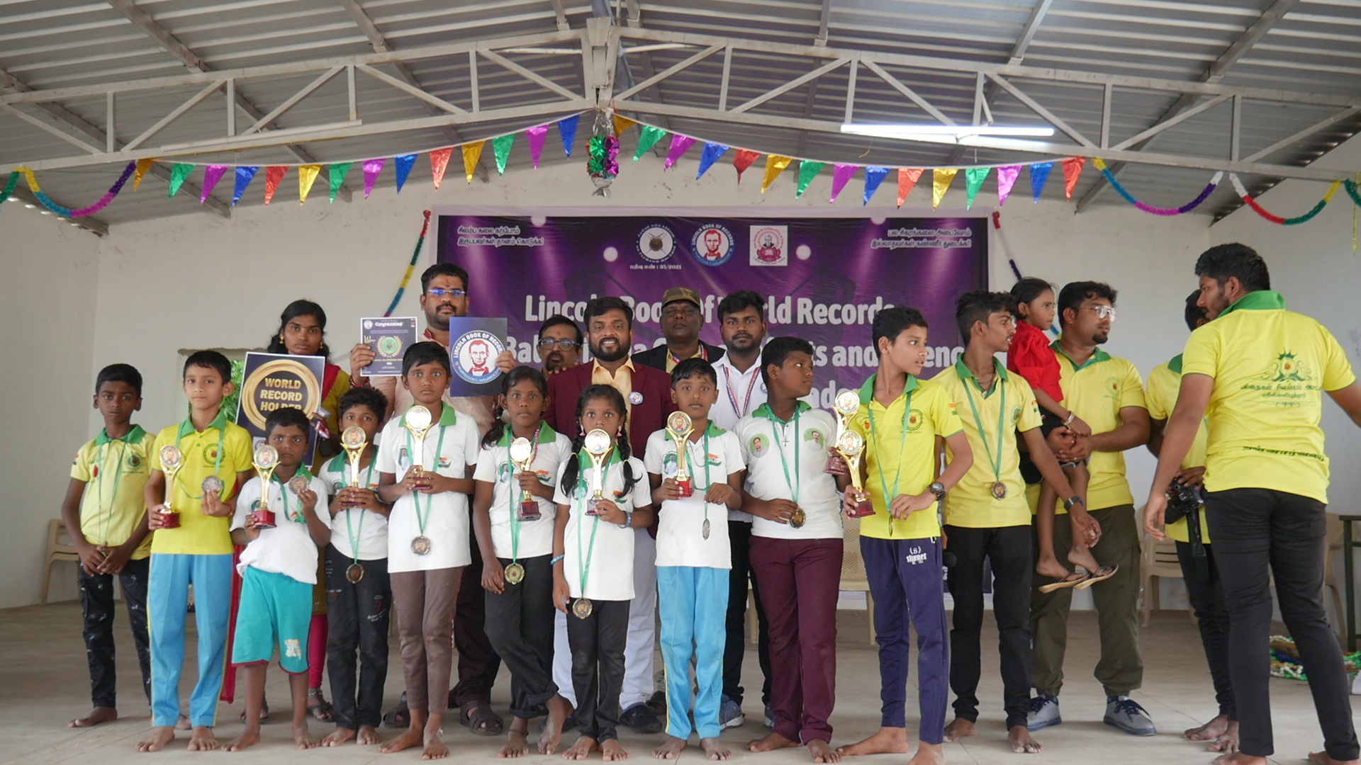
[{"label": "girl with two braids in white t-shirt holding trophy", "polygon": [[[600,750],[606,760],[623,760],[619,746],[619,690],[623,687],[623,647],[633,600],[636,528],[652,525],[642,460],[629,455],[623,395],[610,385],[589,385],[577,399],[578,433],[573,456],[562,466],[553,539],[553,603],[568,613],[572,685],[577,696],[581,736],[563,753],[585,760]],[[604,430],[612,448],[600,475],[583,449],[585,433]],[[593,500],[599,489],[602,500]]]}]

